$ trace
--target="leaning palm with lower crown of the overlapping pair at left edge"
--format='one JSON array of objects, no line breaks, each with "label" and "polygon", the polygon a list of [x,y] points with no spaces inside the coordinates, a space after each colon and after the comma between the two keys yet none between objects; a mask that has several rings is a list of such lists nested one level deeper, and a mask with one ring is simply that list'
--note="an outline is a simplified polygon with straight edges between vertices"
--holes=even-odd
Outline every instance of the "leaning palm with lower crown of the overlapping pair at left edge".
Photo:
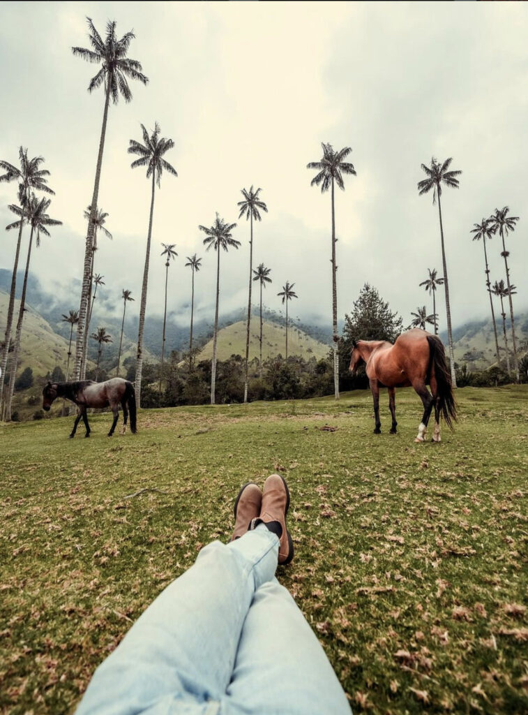
[{"label": "leaning palm with lower crown of the overlapping pair at left edge", "polygon": [[[46,213],[47,209],[51,204],[51,199],[37,199],[35,194],[31,194],[28,199],[26,208],[24,212],[21,212],[19,221],[11,224],[12,228],[18,228],[19,222],[26,221],[31,226],[31,232],[29,234],[29,246],[26,258],[26,270],[24,272],[24,283],[22,285],[22,295],[20,299],[20,309],[19,309],[19,319],[16,322],[16,334],[14,342],[13,357],[11,358],[11,375],[9,378],[9,388],[5,400],[5,410],[4,419],[6,422],[11,421],[11,400],[14,393],[14,385],[16,380],[16,368],[19,364],[19,354],[20,354],[20,339],[22,334],[22,321],[24,320],[24,310],[26,306],[26,289],[27,280],[29,276],[29,263],[31,261],[31,247],[33,245],[33,237],[36,236],[36,247],[40,246],[41,234],[44,236],[49,236],[48,226],[61,226],[62,222],[55,219],[51,219]],[[13,210],[14,207],[10,207]],[[18,208],[18,207],[16,207]],[[16,213],[16,211],[14,212]]]}]

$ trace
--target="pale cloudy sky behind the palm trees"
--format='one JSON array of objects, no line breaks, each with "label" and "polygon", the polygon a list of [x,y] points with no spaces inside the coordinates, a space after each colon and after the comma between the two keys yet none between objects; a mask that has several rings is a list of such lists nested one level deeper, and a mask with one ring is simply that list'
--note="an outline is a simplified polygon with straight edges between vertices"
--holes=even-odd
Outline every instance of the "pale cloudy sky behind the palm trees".
[{"label": "pale cloudy sky behind the palm trees", "polygon": [[[459,189],[445,188],[442,214],[453,325],[488,317],[482,242],[475,222],[508,205],[519,216],[508,237],[514,308],[528,308],[528,6],[476,2],[4,2],[0,6],[0,157],[19,146],[45,157],[55,190],[49,215],[64,222],[44,237],[31,272],[64,306],[79,308],[86,221],[91,201],[104,90],[89,94],[97,66],[71,46],[89,46],[86,16],[99,31],[136,39],[149,84],[132,82],[133,99],[109,110],[99,206],[112,240],[99,237],[95,272],[105,277],[101,304],[122,309],[121,290],[139,296],[149,220],[150,184],[131,169],[129,139],[159,122],[174,140],[156,192],[148,316],[162,314],[161,242],[176,244],[169,272],[169,312],[189,320],[191,270],[196,316],[212,322],[216,257],[199,225],[215,212],[237,222],[239,250],[221,253],[220,312],[247,304],[249,223],[239,220],[241,189],[261,187],[268,213],[254,227],[254,267],[272,269],[264,303],[281,306],[288,280],[299,299],[290,314],[331,325],[329,194],[310,182],[307,163],[321,142],[351,147],[357,176],[336,193],[338,311],[342,320],[365,282],[410,322],[432,299],[419,283],[442,275],[439,221],[432,194],[419,197],[422,162],[452,157]],[[24,28],[24,31],[20,31]],[[524,149],[523,149],[524,147]],[[0,184],[0,224],[13,220],[12,184]],[[489,244],[491,279],[504,278],[499,237]],[[16,235],[0,240],[0,267],[11,268]],[[24,242],[24,250],[26,242]],[[256,285],[256,284],[254,284]],[[98,294],[99,295],[99,294]],[[254,303],[257,294],[254,293]],[[129,308],[130,310],[130,308]],[[443,291],[437,300],[445,327]]]}]

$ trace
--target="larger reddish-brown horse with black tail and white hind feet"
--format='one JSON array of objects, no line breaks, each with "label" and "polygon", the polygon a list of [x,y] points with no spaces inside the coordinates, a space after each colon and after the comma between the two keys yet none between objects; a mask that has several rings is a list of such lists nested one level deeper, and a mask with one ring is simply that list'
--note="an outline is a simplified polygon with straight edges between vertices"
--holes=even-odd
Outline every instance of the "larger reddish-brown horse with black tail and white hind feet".
[{"label": "larger reddish-brown horse with black tail and white hind feet", "polygon": [[[452,427],[452,420],[457,419],[457,405],[454,401],[451,377],[447,369],[444,345],[437,335],[415,328],[400,335],[394,345],[387,340],[357,340],[352,348],[349,370],[356,372],[359,365],[366,363],[376,428],[374,434],[381,433],[379,421],[379,388],[389,391],[389,408],[392,415],[391,434],[396,434],[395,388],[407,388],[412,385],[417,391],[424,415],[418,428],[415,442],[423,442],[427,423],[434,406],[433,442],[440,441],[440,415]],[[431,386],[431,393],[426,385]]]}]

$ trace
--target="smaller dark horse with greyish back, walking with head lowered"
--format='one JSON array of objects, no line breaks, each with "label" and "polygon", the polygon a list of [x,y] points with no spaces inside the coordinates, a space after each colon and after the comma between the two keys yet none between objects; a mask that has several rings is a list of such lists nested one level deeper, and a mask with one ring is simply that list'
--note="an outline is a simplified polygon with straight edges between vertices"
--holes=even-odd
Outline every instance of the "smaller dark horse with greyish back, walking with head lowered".
[{"label": "smaller dark horse with greyish back, walking with head lowered", "polygon": [[136,392],[134,385],[123,378],[111,378],[105,383],[94,383],[92,380],[82,380],[80,383],[47,383],[42,390],[42,409],[46,412],[51,408],[51,403],[56,398],[66,398],[71,400],[75,405],[79,405],[79,414],[77,415],[74,428],[71,430],[70,439],[75,436],[77,425],[81,418],[84,420],[86,427],[85,437],[90,436],[90,427],[86,409],[89,407],[104,408],[109,407],[114,413],[114,422],[110,428],[108,436],[114,434],[117,420],[119,418],[119,405],[123,408],[123,431],[126,432],[126,419],[129,416],[130,410],[130,429],[132,433],[136,433]]}]

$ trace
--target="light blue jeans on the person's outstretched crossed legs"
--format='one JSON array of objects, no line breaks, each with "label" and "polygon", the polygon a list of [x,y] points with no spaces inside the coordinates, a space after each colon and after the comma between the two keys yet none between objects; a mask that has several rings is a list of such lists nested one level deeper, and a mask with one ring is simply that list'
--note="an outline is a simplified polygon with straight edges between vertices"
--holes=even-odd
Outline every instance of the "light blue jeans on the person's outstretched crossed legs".
[{"label": "light blue jeans on the person's outstretched crossed legs", "polygon": [[261,524],[214,541],[96,670],[76,715],[350,715]]}]

